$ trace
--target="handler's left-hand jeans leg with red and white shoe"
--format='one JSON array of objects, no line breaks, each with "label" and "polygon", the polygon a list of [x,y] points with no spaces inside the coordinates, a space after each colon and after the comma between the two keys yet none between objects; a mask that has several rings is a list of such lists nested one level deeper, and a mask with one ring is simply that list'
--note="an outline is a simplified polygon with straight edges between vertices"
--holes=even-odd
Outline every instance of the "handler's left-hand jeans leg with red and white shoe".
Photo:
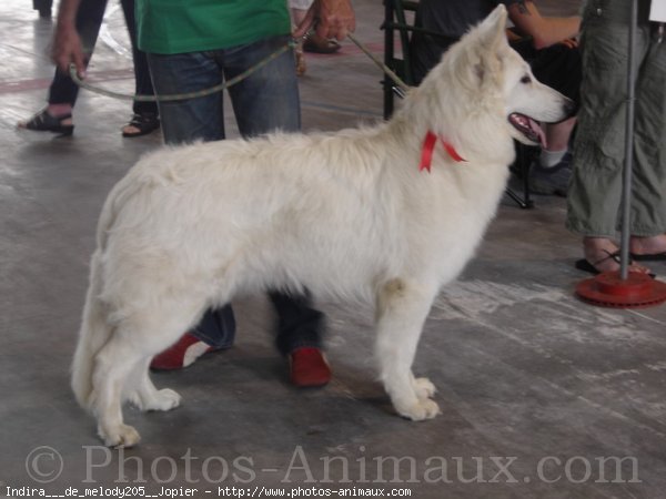
[{"label": "handler's left-hand jeans leg with red and white shoe", "polygon": [[[148,54],[148,62],[158,94],[194,92],[219,84],[222,74],[215,55],[194,52],[175,55]],[[190,143],[196,140],[224,139],[222,94],[159,102],[164,142]],[[192,364],[211,349],[226,348],[233,343],[235,319],[230,305],[205,312],[203,318],[170,349],[155,356],[151,367],[175,369]]]}]

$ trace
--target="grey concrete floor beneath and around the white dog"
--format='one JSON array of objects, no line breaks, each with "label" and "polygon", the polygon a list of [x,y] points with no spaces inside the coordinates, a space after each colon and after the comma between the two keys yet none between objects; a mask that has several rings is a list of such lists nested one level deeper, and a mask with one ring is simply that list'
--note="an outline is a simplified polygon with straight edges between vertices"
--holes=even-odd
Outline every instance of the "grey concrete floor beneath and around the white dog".
[{"label": "grey concrete floor beneath and around the white dog", "polygon": [[[127,48],[127,38],[111,3],[90,73],[129,91],[131,61],[111,43]],[[380,52],[380,2],[355,4],[359,38]],[[554,197],[536,197],[532,211],[505,200],[477,257],[432,310],[415,371],[440,389],[436,419],[392,413],[370,363],[372,310],[357,305],[321,304],[334,380],[292,388],[272,347],[271,309],[256,297],[234,304],[234,348],[154,375],[181,393],[181,408],[128,409],[142,444],[102,448],[68,376],[88,262],[107,193],[161,138],[123,140],[129,104],[89,92],[72,138],[14,130],[44,101],[51,29],[27,0],[0,2],[0,496],[130,486],[159,497],[162,487],[196,488],[194,497],[231,487],[256,496],[262,487],[355,487],[418,498],[664,497],[666,309],[578,302],[579,244]],[[381,74],[353,45],[307,63],[305,129],[381,118]],[[666,274],[664,264],[653,268]]]}]

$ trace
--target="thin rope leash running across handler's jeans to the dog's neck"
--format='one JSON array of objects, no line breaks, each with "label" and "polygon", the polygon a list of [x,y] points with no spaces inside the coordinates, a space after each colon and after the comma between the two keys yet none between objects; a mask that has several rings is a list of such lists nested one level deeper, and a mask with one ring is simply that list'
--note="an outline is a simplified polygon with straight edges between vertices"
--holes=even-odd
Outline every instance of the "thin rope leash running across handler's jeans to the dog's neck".
[{"label": "thin rope leash running across handler's jeans to the dog's neck", "polygon": [[[384,62],[382,62],[380,59],[377,59],[352,33],[347,33],[347,38],[350,40],[352,40],[352,42],[354,42],[354,44],[356,47],[359,47],[359,49],[361,49],[363,51],[363,53],[365,53],[365,55],[367,55],[403,91],[407,91],[410,89],[410,85],[407,85],[404,81],[402,81],[400,79],[400,77],[397,74],[395,74],[395,72],[393,72],[386,64],[384,64]],[[232,78],[231,80],[224,81],[224,82],[222,82],[222,83],[220,83],[220,84],[218,84],[215,86],[211,86],[210,89],[199,90],[196,92],[175,93],[175,94],[169,94],[169,95],[158,95],[158,94],[155,94],[155,95],[131,95],[131,94],[128,94],[128,93],[113,92],[112,90],[102,89],[100,86],[97,86],[97,85],[93,85],[91,83],[88,83],[84,80],[81,80],[79,78],[79,75],[77,74],[77,68],[74,67],[74,64],[70,64],[70,77],[71,77],[72,81],[74,83],[77,83],[79,86],[81,86],[82,89],[85,89],[85,90],[89,90],[91,92],[99,93],[101,95],[105,95],[105,96],[109,96],[109,98],[112,98],[112,99],[119,99],[119,100],[123,100],[123,101],[135,101],[135,102],[182,101],[182,100],[186,100],[186,99],[202,98],[202,96],[210,95],[210,94],[213,94],[213,93],[216,93],[216,92],[221,92],[221,91],[223,91],[225,89],[229,89],[230,86],[233,86],[233,85],[240,83],[241,81],[245,80],[248,77],[250,77],[254,72],[259,71],[264,65],[269,64],[271,61],[273,61],[274,59],[279,58],[280,55],[282,55],[287,50],[291,50],[291,49],[295,48],[296,44],[297,44],[296,40],[291,40],[289,43],[286,43],[285,45],[281,47],[275,52],[271,53],[270,55],[268,55],[266,58],[262,59],[256,64],[254,64],[253,67],[251,67],[248,70],[243,71],[241,74]]]}]

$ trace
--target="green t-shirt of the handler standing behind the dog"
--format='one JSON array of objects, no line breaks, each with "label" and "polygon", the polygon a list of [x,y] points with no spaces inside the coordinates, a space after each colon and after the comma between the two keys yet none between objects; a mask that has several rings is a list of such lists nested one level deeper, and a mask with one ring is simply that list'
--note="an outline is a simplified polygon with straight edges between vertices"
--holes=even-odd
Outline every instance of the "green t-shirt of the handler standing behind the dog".
[{"label": "green t-shirt of the handler standing behind the dog", "polygon": [[173,54],[289,34],[285,0],[137,0],[139,48]]}]

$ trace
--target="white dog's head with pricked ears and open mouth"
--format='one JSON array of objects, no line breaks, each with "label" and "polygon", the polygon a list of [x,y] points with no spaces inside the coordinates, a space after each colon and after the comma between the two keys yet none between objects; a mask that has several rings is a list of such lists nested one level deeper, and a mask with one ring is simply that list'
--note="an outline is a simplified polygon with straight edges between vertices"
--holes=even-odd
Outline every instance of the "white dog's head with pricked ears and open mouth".
[{"label": "white dog's head with pricked ears and open mouth", "polygon": [[[443,119],[436,128],[451,126],[453,119],[456,126],[476,126],[483,140],[482,123],[494,129],[493,136],[502,128],[519,142],[543,145],[538,122],[565,120],[574,103],[534,78],[529,64],[507,42],[506,18],[506,8],[500,4],[444,54],[422,86],[438,94]],[[432,102],[431,110],[436,108]]]}]

